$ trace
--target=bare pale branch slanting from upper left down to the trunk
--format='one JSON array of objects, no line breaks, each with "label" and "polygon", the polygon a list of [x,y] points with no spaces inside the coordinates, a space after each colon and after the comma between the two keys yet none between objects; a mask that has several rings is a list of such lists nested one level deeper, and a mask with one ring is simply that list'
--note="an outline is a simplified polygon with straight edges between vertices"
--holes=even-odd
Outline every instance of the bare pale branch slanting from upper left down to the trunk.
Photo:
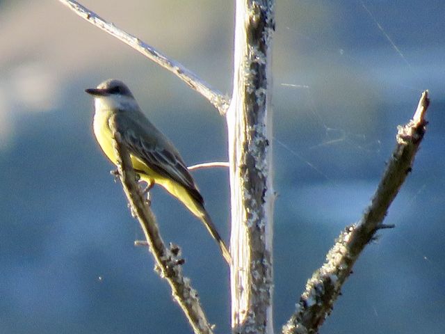
[{"label": "bare pale branch slanting from upper left down to the trunk", "polygon": [[212,88],[205,81],[197,77],[196,74],[188,70],[181,63],[177,63],[176,61],[172,61],[167,58],[167,56],[161,54],[161,52],[154,49],[147,43],[143,42],[136,36],[133,36],[115,26],[111,22],[107,22],[106,20],[99,17],[96,13],[92,12],[88,8],[82,6],[80,3],[74,0],[59,0],[65,6],[70,8],[74,13],[86,19],[93,26],[97,26],[99,29],[106,31],[110,35],[118,38],[125,44],[129,45],[136,51],[139,51],[141,54],[154,61],[155,63],[161,65],[165,69],[174,73],[179,77],[182,81],[184,81],[188,86],[196,90],[202,96],[204,96],[216,109],[218,109],[221,115],[224,115],[229,107],[229,98],[220,93],[218,90]]}]

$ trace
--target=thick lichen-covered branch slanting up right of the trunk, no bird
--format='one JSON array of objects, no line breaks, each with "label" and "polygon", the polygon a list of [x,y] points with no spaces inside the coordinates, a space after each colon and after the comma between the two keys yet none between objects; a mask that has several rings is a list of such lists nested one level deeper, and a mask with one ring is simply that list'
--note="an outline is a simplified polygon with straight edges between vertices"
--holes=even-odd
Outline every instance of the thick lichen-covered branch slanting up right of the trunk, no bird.
[{"label": "thick lichen-covered branch slanting up right of the trunk, no bird", "polygon": [[305,292],[297,303],[296,312],[283,326],[283,334],[316,333],[330,314],[341,286],[350,275],[364,247],[383,225],[389,205],[410,173],[414,157],[426,131],[428,90],[419,100],[412,120],[398,127],[397,145],[382,180],[360,221],[344,230],[327,253],[325,264],[307,281]]}]

